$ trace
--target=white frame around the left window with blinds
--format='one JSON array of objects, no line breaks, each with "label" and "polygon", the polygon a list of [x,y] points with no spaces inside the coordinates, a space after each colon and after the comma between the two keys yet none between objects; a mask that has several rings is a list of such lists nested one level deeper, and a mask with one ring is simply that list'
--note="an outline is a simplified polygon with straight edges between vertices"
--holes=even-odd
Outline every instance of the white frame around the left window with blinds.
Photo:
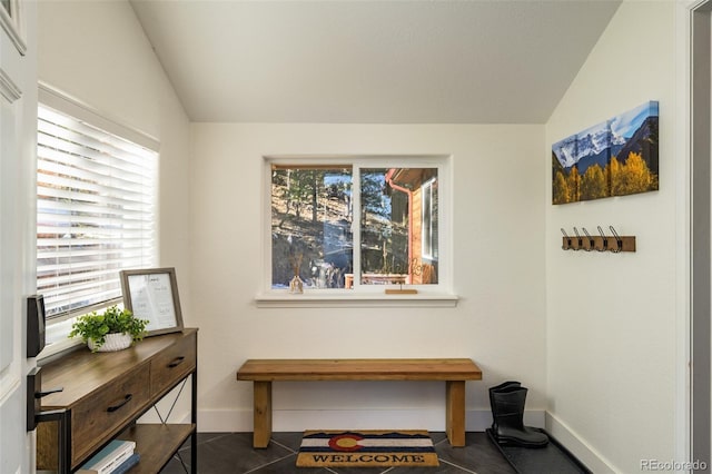
[{"label": "white frame around the left window with blinds", "polygon": [[[115,135],[122,139],[129,140],[140,147],[144,147],[148,150],[151,150],[159,154],[160,144],[154,137],[150,137],[137,129],[127,127],[121,125],[119,121],[113,120],[112,118],[108,118],[105,115],[97,111],[91,106],[88,106],[76,98],[72,98],[51,86],[46,83],[40,83],[38,89],[38,102],[49,109],[53,109],[59,113],[65,113],[67,116],[73,117],[75,119],[79,119],[86,124],[89,124],[93,127],[97,127],[108,134]],[[160,156],[157,158],[160,160]],[[158,167],[158,162],[156,164]],[[159,180],[160,177],[157,175],[156,179]],[[156,182],[156,189],[158,191],[158,182]],[[156,206],[156,217],[158,216],[158,195],[155,196],[155,206]],[[155,256],[154,259],[157,263],[158,257],[160,255],[159,248],[159,229],[156,226],[156,246],[155,246]],[[117,278],[118,271],[117,271]],[[67,315],[50,318],[47,320],[47,347],[40,354],[40,358],[51,356],[60,350],[66,349],[72,345],[78,344],[77,340],[70,340],[67,338],[67,335],[71,330],[71,324],[76,320],[77,316],[89,313],[91,310],[101,309],[110,306],[111,304],[121,305],[121,298],[113,299],[111,302],[107,302],[106,304],[99,304],[95,306],[87,307],[85,309],[79,309],[76,312],[71,312]]]}]

